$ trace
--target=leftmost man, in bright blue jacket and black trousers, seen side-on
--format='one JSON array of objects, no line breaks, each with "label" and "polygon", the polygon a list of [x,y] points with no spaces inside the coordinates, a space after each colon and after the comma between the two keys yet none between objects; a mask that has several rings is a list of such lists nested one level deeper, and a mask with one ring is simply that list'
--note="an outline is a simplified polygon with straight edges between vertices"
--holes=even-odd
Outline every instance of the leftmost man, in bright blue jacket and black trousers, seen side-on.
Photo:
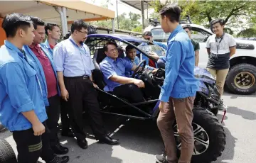
[{"label": "leftmost man, in bright blue jacket and black trousers, seen side-on", "polygon": [[18,163],[65,163],[50,148],[43,90],[36,69],[28,61],[23,45],[31,45],[34,28],[30,16],[11,13],[2,28],[7,40],[0,49],[0,120],[12,133]]}]

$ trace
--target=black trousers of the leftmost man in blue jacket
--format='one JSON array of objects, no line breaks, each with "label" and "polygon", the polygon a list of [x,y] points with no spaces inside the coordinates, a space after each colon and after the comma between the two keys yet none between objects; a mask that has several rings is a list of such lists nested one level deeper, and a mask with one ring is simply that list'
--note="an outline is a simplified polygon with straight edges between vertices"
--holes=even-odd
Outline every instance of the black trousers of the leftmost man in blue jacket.
[{"label": "black trousers of the leftmost man in blue jacket", "polygon": [[46,132],[41,136],[33,135],[33,129],[14,131],[13,137],[18,150],[18,163],[36,163],[41,157],[45,162],[54,158],[54,152],[50,148],[49,129],[46,123]]}]

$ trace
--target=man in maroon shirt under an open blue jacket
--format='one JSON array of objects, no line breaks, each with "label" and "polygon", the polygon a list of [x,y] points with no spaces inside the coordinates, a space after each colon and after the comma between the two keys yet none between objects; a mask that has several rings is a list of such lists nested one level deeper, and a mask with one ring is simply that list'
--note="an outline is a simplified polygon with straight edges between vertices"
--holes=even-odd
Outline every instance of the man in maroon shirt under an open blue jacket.
[{"label": "man in maroon shirt under an open blue jacket", "polygon": [[34,67],[41,67],[38,69],[38,76],[40,79],[44,79],[46,83],[42,83],[44,92],[46,92],[47,101],[49,103],[46,106],[46,112],[48,120],[46,123],[50,130],[50,147],[55,154],[67,154],[68,148],[63,147],[58,139],[58,120],[60,119],[60,91],[58,88],[58,79],[55,65],[52,60],[52,56],[48,53],[48,50],[44,45],[41,45],[46,35],[45,23],[37,17],[31,18],[33,26],[35,28],[35,38],[33,43],[29,46],[24,46],[24,50],[32,62],[36,63]]}]

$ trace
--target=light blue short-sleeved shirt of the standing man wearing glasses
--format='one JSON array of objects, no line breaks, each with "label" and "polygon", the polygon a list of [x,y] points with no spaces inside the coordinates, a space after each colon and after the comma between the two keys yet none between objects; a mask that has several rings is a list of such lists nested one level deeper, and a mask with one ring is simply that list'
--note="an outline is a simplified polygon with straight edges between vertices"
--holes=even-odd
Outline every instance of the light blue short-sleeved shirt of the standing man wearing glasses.
[{"label": "light blue short-sleeved shirt of the standing man wearing glasses", "polygon": [[64,77],[81,77],[92,75],[95,69],[90,56],[90,50],[84,43],[79,47],[70,36],[58,43],[53,49],[53,61],[57,72],[63,72]]}]

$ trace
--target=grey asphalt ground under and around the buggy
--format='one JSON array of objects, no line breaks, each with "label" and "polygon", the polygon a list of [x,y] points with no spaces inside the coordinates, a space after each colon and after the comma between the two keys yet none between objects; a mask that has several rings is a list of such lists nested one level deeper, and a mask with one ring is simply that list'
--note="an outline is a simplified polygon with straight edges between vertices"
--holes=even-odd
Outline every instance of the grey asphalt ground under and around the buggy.
[{"label": "grey asphalt ground under and around the buggy", "polygon": [[[214,163],[252,163],[256,160],[256,94],[240,96],[225,93],[223,95],[228,114],[223,122],[226,142],[221,157]],[[220,112],[221,113],[221,112]],[[220,115],[218,116],[220,119]],[[154,155],[161,154],[163,144],[156,123],[152,121],[126,120],[114,116],[105,117],[106,128],[112,137],[119,138],[120,145],[102,145],[90,135],[88,127],[87,150],[81,150],[75,139],[60,137],[65,147],[69,147],[70,163],[154,163]],[[8,131],[0,134],[16,145]]]}]

